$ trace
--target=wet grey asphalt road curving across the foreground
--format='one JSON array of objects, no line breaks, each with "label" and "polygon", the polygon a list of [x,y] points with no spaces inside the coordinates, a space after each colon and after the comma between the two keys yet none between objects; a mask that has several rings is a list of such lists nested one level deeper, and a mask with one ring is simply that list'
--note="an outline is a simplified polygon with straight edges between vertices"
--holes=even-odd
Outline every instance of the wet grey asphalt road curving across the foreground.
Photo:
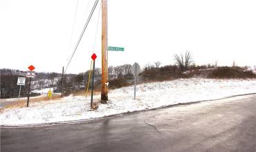
[{"label": "wet grey asphalt road curving across the foreground", "polygon": [[1,128],[1,151],[256,151],[256,95],[95,122]]}]

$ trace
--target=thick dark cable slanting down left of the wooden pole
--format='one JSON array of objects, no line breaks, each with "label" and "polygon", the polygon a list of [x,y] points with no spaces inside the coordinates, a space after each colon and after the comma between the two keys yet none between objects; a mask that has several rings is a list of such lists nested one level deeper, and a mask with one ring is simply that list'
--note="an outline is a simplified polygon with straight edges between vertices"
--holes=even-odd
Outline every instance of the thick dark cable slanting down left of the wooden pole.
[{"label": "thick dark cable slanting down left of the wooden pole", "polygon": [[93,15],[93,12],[94,12],[94,10],[95,10],[95,8],[96,8],[98,2],[99,2],[99,0],[96,0],[95,3],[94,3],[94,5],[93,5],[93,8],[92,8],[92,10],[91,10],[91,12],[90,12],[90,15],[89,15],[89,17],[88,17],[88,19],[87,19],[87,21],[86,21],[86,23],[85,23],[85,25],[84,25],[83,30],[82,30],[82,33],[81,33],[81,35],[80,35],[80,37],[79,37],[79,39],[78,39],[78,41],[77,41],[77,44],[75,45],[75,49],[74,49],[74,51],[73,51],[73,53],[72,53],[72,55],[71,55],[71,59],[69,59],[68,64],[66,65],[66,69],[65,69],[64,73],[66,73],[66,70],[68,69],[68,66],[69,66],[69,64],[71,63],[71,60],[73,59],[73,56],[75,55],[75,51],[77,50],[77,47],[78,47],[78,45],[80,44],[80,41],[81,41],[81,39],[82,39],[82,37],[83,37],[83,35],[84,35],[84,31],[86,30],[86,28],[87,28],[87,26],[88,26],[88,24],[89,24],[89,21],[91,20],[91,16]]}]

